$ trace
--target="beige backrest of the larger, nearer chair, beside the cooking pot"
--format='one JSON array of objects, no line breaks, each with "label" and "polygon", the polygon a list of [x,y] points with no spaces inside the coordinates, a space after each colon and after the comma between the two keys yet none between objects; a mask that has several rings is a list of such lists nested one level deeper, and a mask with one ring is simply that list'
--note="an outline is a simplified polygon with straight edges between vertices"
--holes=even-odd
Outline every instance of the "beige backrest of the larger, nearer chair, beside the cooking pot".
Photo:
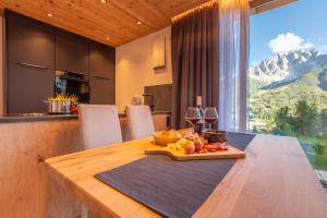
[{"label": "beige backrest of the larger, nearer chair, beside the cooking pot", "polygon": [[84,149],[122,142],[117,106],[80,105],[78,119]]}]

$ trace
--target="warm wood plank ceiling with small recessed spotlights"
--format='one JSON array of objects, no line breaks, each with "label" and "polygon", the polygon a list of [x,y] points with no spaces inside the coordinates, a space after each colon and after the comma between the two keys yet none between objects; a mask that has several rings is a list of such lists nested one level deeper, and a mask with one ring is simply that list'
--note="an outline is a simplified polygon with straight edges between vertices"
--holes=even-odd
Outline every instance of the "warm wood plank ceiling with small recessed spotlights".
[{"label": "warm wood plank ceiling with small recessed spotlights", "polygon": [[207,1],[0,0],[0,9],[117,47],[169,26],[171,17]]}]

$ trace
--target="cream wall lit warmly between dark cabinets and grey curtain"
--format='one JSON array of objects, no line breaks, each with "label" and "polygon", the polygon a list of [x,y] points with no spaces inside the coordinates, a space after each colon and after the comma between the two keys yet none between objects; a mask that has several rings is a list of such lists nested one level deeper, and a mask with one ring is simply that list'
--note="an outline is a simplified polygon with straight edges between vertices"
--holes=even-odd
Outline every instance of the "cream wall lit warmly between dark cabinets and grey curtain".
[{"label": "cream wall lit warmly between dark cabinets and grey curtain", "polygon": [[[117,47],[116,104],[120,112],[131,104],[132,96],[142,96],[144,86],[172,83],[170,33],[171,28],[167,27]],[[159,36],[166,36],[166,69],[155,72],[152,47]]]}]

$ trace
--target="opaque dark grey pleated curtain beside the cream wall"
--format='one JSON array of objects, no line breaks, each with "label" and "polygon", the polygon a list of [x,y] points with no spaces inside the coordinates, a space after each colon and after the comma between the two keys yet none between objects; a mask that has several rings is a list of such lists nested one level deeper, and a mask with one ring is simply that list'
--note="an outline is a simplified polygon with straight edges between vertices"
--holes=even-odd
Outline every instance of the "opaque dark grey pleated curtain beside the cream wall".
[{"label": "opaque dark grey pleated curtain beside the cream wall", "polygon": [[196,9],[171,28],[173,74],[172,126],[186,126],[184,114],[202,96],[203,107],[219,102],[219,5]]}]

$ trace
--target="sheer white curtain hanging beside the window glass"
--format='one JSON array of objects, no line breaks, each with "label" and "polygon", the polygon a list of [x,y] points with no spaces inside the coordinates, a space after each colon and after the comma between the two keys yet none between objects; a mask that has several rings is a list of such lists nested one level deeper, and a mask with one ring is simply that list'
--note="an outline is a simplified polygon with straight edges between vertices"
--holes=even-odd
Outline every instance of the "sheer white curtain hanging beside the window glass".
[{"label": "sheer white curtain hanging beside the window glass", "polygon": [[249,1],[221,0],[219,12],[219,129],[245,131]]}]

